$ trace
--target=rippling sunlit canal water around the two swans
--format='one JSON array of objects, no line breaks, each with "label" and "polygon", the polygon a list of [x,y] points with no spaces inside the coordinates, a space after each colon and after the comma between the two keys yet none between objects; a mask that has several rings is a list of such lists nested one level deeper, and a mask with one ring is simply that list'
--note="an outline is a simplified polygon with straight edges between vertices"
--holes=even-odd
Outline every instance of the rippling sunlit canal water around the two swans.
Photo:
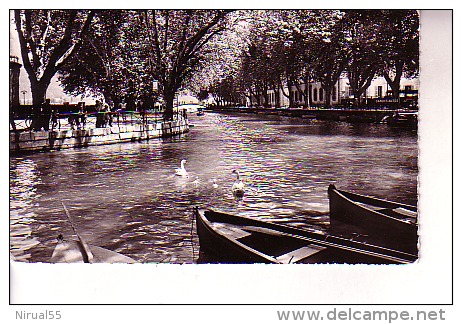
[{"label": "rippling sunlit canal water around the two swans", "polygon": [[[48,262],[67,207],[89,244],[140,262],[196,263],[195,206],[329,228],[327,187],[417,203],[415,131],[282,116],[191,116],[170,139],[10,157],[10,251]],[[189,177],[175,175],[185,159]],[[238,170],[246,185],[232,194]]]}]

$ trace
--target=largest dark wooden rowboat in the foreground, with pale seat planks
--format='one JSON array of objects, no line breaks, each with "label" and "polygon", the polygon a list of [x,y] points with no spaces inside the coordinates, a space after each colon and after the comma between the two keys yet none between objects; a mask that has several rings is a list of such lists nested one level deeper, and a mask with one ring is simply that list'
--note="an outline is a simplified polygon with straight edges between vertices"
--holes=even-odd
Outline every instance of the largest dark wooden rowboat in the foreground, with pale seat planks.
[{"label": "largest dark wooden rowboat in the foreground, with pale seat planks", "polygon": [[411,263],[416,255],[281,224],[195,210],[201,252],[225,263]]}]

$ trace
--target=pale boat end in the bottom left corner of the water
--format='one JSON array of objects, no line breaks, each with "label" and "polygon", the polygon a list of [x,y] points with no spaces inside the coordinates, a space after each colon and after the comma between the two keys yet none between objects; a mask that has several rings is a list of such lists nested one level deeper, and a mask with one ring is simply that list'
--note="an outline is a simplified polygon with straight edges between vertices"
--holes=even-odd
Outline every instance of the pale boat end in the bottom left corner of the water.
[{"label": "pale boat end in the bottom left corner of the water", "polygon": [[123,254],[89,245],[80,240],[65,241],[58,237],[51,263],[136,263],[135,260]]}]

